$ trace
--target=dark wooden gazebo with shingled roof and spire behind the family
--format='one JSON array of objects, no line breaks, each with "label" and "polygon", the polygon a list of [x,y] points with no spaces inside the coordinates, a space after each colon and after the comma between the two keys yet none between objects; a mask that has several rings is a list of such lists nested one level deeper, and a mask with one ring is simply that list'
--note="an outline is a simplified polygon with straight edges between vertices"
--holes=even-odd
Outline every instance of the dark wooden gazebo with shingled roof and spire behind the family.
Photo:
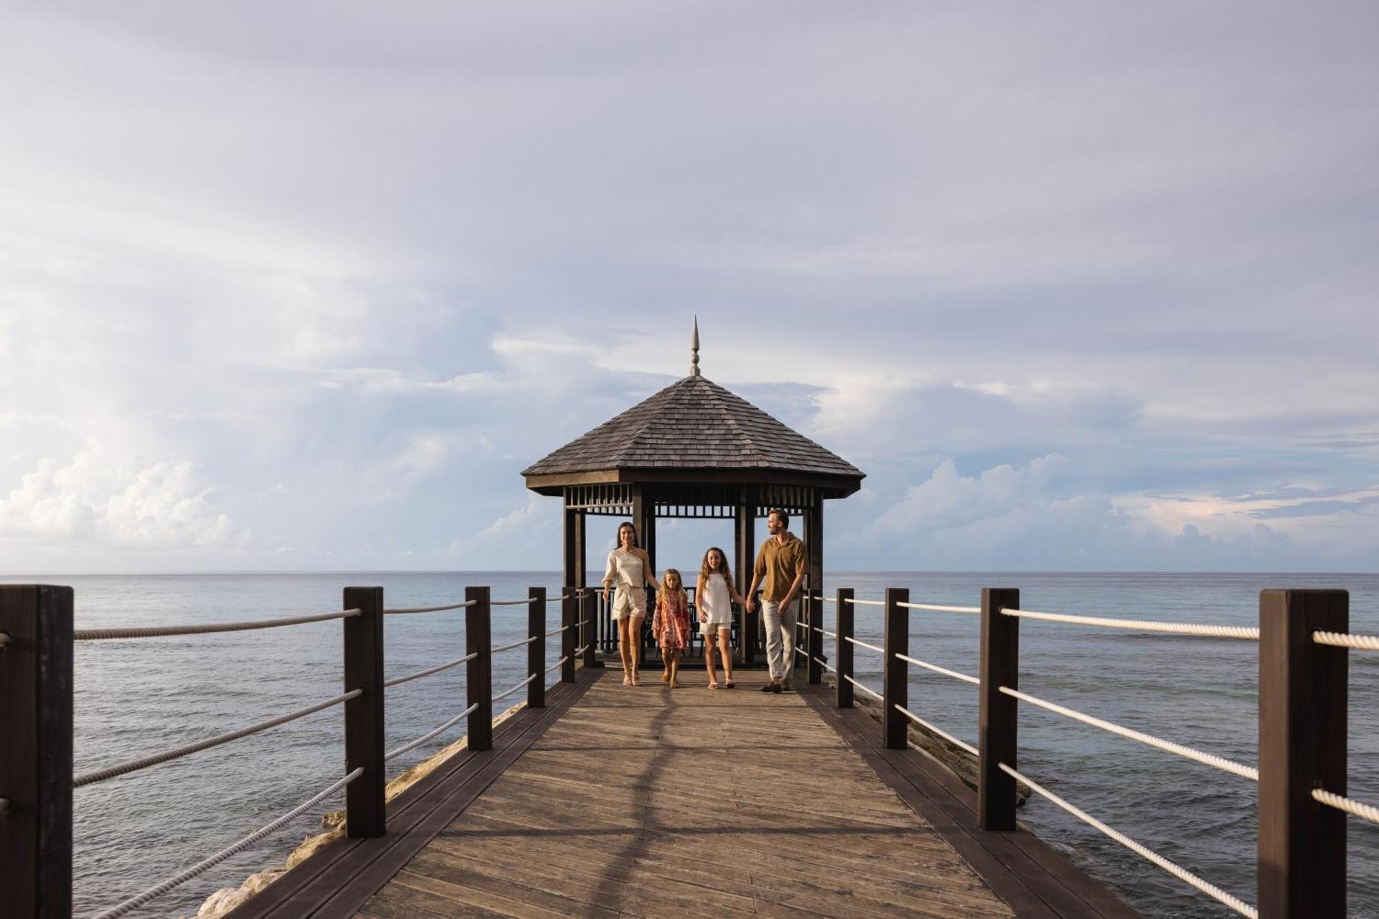
[{"label": "dark wooden gazebo with shingled roof and spire behind the family", "polygon": [[[564,500],[564,582],[586,586],[586,520],[632,520],[656,571],[656,520],[731,519],[734,575],[746,592],[756,520],[787,511],[808,549],[807,586],[823,577],[823,502],[862,487],[860,469],[699,373],[699,324],[690,375],[523,471],[527,487]],[[800,523],[797,524],[796,520]],[[603,557],[598,557],[603,566]],[[694,575],[687,573],[691,584]],[[758,626],[743,621],[739,654],[753,657]]]}]

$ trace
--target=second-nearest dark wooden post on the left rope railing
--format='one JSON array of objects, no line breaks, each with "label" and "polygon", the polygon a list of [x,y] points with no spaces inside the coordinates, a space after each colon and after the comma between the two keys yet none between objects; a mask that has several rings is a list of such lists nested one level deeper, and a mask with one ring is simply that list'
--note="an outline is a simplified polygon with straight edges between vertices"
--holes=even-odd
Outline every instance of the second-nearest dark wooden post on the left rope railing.
[{"label": "second-nearest dark wooden post on the left rope railing", "polygon": [[345,789],[345,825],[350,839],[382,836],[387,829],[383,803],[383,588],[345,588],[345,691],[361,694],[345,702],[345,771],[364,774]]}]

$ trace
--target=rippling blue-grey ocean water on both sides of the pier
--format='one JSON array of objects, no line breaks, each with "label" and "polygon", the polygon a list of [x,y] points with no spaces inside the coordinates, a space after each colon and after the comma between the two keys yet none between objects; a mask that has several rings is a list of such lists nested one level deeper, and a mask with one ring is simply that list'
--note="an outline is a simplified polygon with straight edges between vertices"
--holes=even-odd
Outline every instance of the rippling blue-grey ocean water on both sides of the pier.
[{"label": "rippling blue-grey ocean water on both sides of the pier", "polygon": [[[695,566],[688,566],[694,569]],[[594,575],[590,575],[592,581]],[[494,599],[558,588],[556,573],[359,573],[3,577],[76,589],[77,628],[269,618],[339,609],[345,585],[383,585],[390,607],[463,599],[487,584]],[[909,588],[920,603],[975,606],[982,586],[1016,586],[1033,610],[1140,620],[1254,625],[1270,586],[1350,591],[1351,631],[1379,633],[1376,574],[1056,574],[836,573],[826,595],[852,586],[880,599]],[[525,607],[495,607],[494,643],[520,638]],[[558,604],[549,606],[552,628]],[[825,606],[832,629],[833,604]],[[975,675],[978,620],[910,618],[914,657]],[[881,611],[856,607],[856,635],[878,642]],[[463,654],[463,613],[386,620],[386,673],[396,676]],[[557,647],[549,644],[547,662]],[[825,653],[833,657],[833,640]],[[858,679],[880,689],[880,655],[856,650]],[[524,678],[525,654],[494,661],[494,690]],[[910,706],[976,742],[976,690],[914,672]],[[1054,702],[1254,764],[1258,647],[1026,620],[1020,689]],[[554,676],[554,675],[552,675]],[[338,621],[192,638],[83,642],[76,650],[76,770],[85,771],[284,713],[341,691]],[[647,691],[656,691],[647,689]],[[523,693],[512,701],[523,698]],[[387,697],[393,748],[459,713],[465,671],[397,686]],[[499,704],[502,706],[503,702]],[[389,777],[463,734],[463,724],[390,763]],[[1229,775],[1022,705],[1020,771],[1185,868],[1254,901],[1255,788]],[[341,709],[76,791],[76,915],[110,907],[194,864],[284,813],[343,774]],[[685,778],[691,788],[694,778]],[[1350,795],[1379,802],[1379,654],[1350,654]],[[303,836],[320,832],[324,802],[277,835],[153,901],[135,915],[196,912],[218,887],[279,867]],[[1233,912],[1033,798],[1020,818],[1149,916]],[[1351,818],[1350,915],[1379,918],[1379,827]]]}]

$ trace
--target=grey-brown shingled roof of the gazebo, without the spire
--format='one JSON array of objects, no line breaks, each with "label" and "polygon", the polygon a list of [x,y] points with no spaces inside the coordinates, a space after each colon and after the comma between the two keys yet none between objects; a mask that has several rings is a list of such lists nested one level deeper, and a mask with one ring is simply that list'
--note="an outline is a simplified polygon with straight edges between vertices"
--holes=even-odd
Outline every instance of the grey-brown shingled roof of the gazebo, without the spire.
[{"label": "grey-brown shingled roof of the gazebo, without the spire", "polygon": [[[851,479],[866,475],[747,400],[695,374],[528,466],[531,479],[622,469],[739,469]],[[834,480],[837,482],[837,480]],[[840,484],[843,484],[840,482]]]}]

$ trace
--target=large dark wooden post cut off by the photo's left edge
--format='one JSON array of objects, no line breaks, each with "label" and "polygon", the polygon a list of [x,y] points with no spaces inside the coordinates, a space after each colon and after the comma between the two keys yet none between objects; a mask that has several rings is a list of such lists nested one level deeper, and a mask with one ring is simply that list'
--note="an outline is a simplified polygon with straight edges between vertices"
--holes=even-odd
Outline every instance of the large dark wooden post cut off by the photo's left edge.
[{"label": "large dark wooden post cut off by the photo's left edge", "polygon": [[0,585],[6,915],[72,915],[72,588]]}]

